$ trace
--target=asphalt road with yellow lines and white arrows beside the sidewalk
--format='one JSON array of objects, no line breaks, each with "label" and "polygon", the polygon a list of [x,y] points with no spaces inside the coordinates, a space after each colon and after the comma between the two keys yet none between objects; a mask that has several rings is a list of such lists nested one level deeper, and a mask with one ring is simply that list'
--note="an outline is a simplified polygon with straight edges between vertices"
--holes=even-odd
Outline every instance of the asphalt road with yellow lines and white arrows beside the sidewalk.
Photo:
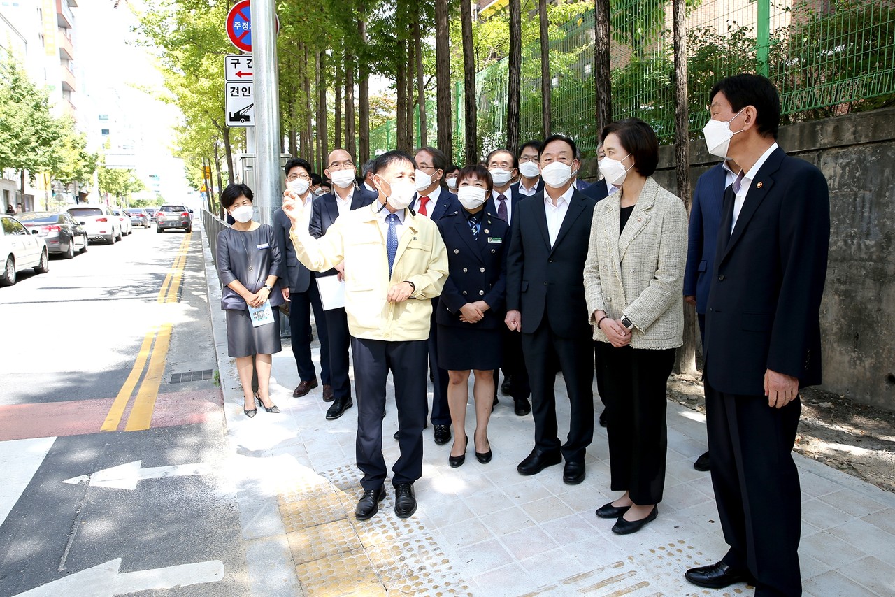
[{"label": "asphalt road with yellow lines and white arrows beside the sidewalk", "polygon": [[0,288],[0,595],[248,593],[198,228]]}]

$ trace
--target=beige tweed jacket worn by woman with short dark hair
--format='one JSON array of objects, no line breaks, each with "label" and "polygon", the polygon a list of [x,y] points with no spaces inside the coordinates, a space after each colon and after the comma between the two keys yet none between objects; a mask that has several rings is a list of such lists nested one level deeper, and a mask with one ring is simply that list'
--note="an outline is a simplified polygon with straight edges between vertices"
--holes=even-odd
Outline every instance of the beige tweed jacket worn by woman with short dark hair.
[{"label": "beige tweed jacket worn by woman with short dark hair", "polygon": [[584,263],[593,339],[609,342],[593,318],[594,311],[606,311],[634,323],[633,348],[677,348],[684,343],[684,202],[647,178],[619,237],[620,199],[621,192],[614,192],[593,209]]}]

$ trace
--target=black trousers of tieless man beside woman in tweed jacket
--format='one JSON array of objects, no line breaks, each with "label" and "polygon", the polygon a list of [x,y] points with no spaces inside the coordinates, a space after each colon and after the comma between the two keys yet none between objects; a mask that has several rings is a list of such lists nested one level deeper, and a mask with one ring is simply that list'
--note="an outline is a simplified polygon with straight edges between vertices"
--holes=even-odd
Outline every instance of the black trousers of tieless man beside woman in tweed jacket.
[{"label": "black trousers of tieless man beside woman in tweed jacket", "polygon": [[[514,332],[517,333],[517,332]],[[559,449],[567,462],[584,462],[585,449],[593,439],[593,359],[591,337],[559,337],[548,318],[532,333],[522,334],[522,350],[532,386],[534,447]],[[572,406],[566,443],[559,445],[555,363],[558,362]]]}]

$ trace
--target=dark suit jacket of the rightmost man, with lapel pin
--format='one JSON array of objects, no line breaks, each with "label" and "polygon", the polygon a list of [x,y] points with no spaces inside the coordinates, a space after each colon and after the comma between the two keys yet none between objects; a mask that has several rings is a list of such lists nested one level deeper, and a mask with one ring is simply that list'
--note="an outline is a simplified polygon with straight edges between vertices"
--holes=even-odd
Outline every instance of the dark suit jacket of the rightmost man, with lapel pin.
[{"label": "dark suit jacket of the rightmost man, with lapel pin", "polygon": [[728,394],[763,396],[768,369],[821,382],[819,311],[830,245],[830,196],[815,166],[775,149],[733,221],[729,187],[705,313],[705,375]]}]

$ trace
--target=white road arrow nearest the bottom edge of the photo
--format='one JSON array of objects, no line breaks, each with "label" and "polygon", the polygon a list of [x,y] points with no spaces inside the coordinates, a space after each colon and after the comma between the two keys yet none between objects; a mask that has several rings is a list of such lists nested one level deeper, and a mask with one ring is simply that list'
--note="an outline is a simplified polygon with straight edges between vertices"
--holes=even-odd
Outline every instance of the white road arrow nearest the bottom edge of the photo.
[{"label": "white road arrow nearest the bottom edge of the photo", "polygon": [[18,597],[113,597],[150,589],[172,589],[191,584],[217,583],[224,578],[224,562],[219,559],[166,568],[119,574],[121,558],[87,568],[51,583],[19,593]]}]

